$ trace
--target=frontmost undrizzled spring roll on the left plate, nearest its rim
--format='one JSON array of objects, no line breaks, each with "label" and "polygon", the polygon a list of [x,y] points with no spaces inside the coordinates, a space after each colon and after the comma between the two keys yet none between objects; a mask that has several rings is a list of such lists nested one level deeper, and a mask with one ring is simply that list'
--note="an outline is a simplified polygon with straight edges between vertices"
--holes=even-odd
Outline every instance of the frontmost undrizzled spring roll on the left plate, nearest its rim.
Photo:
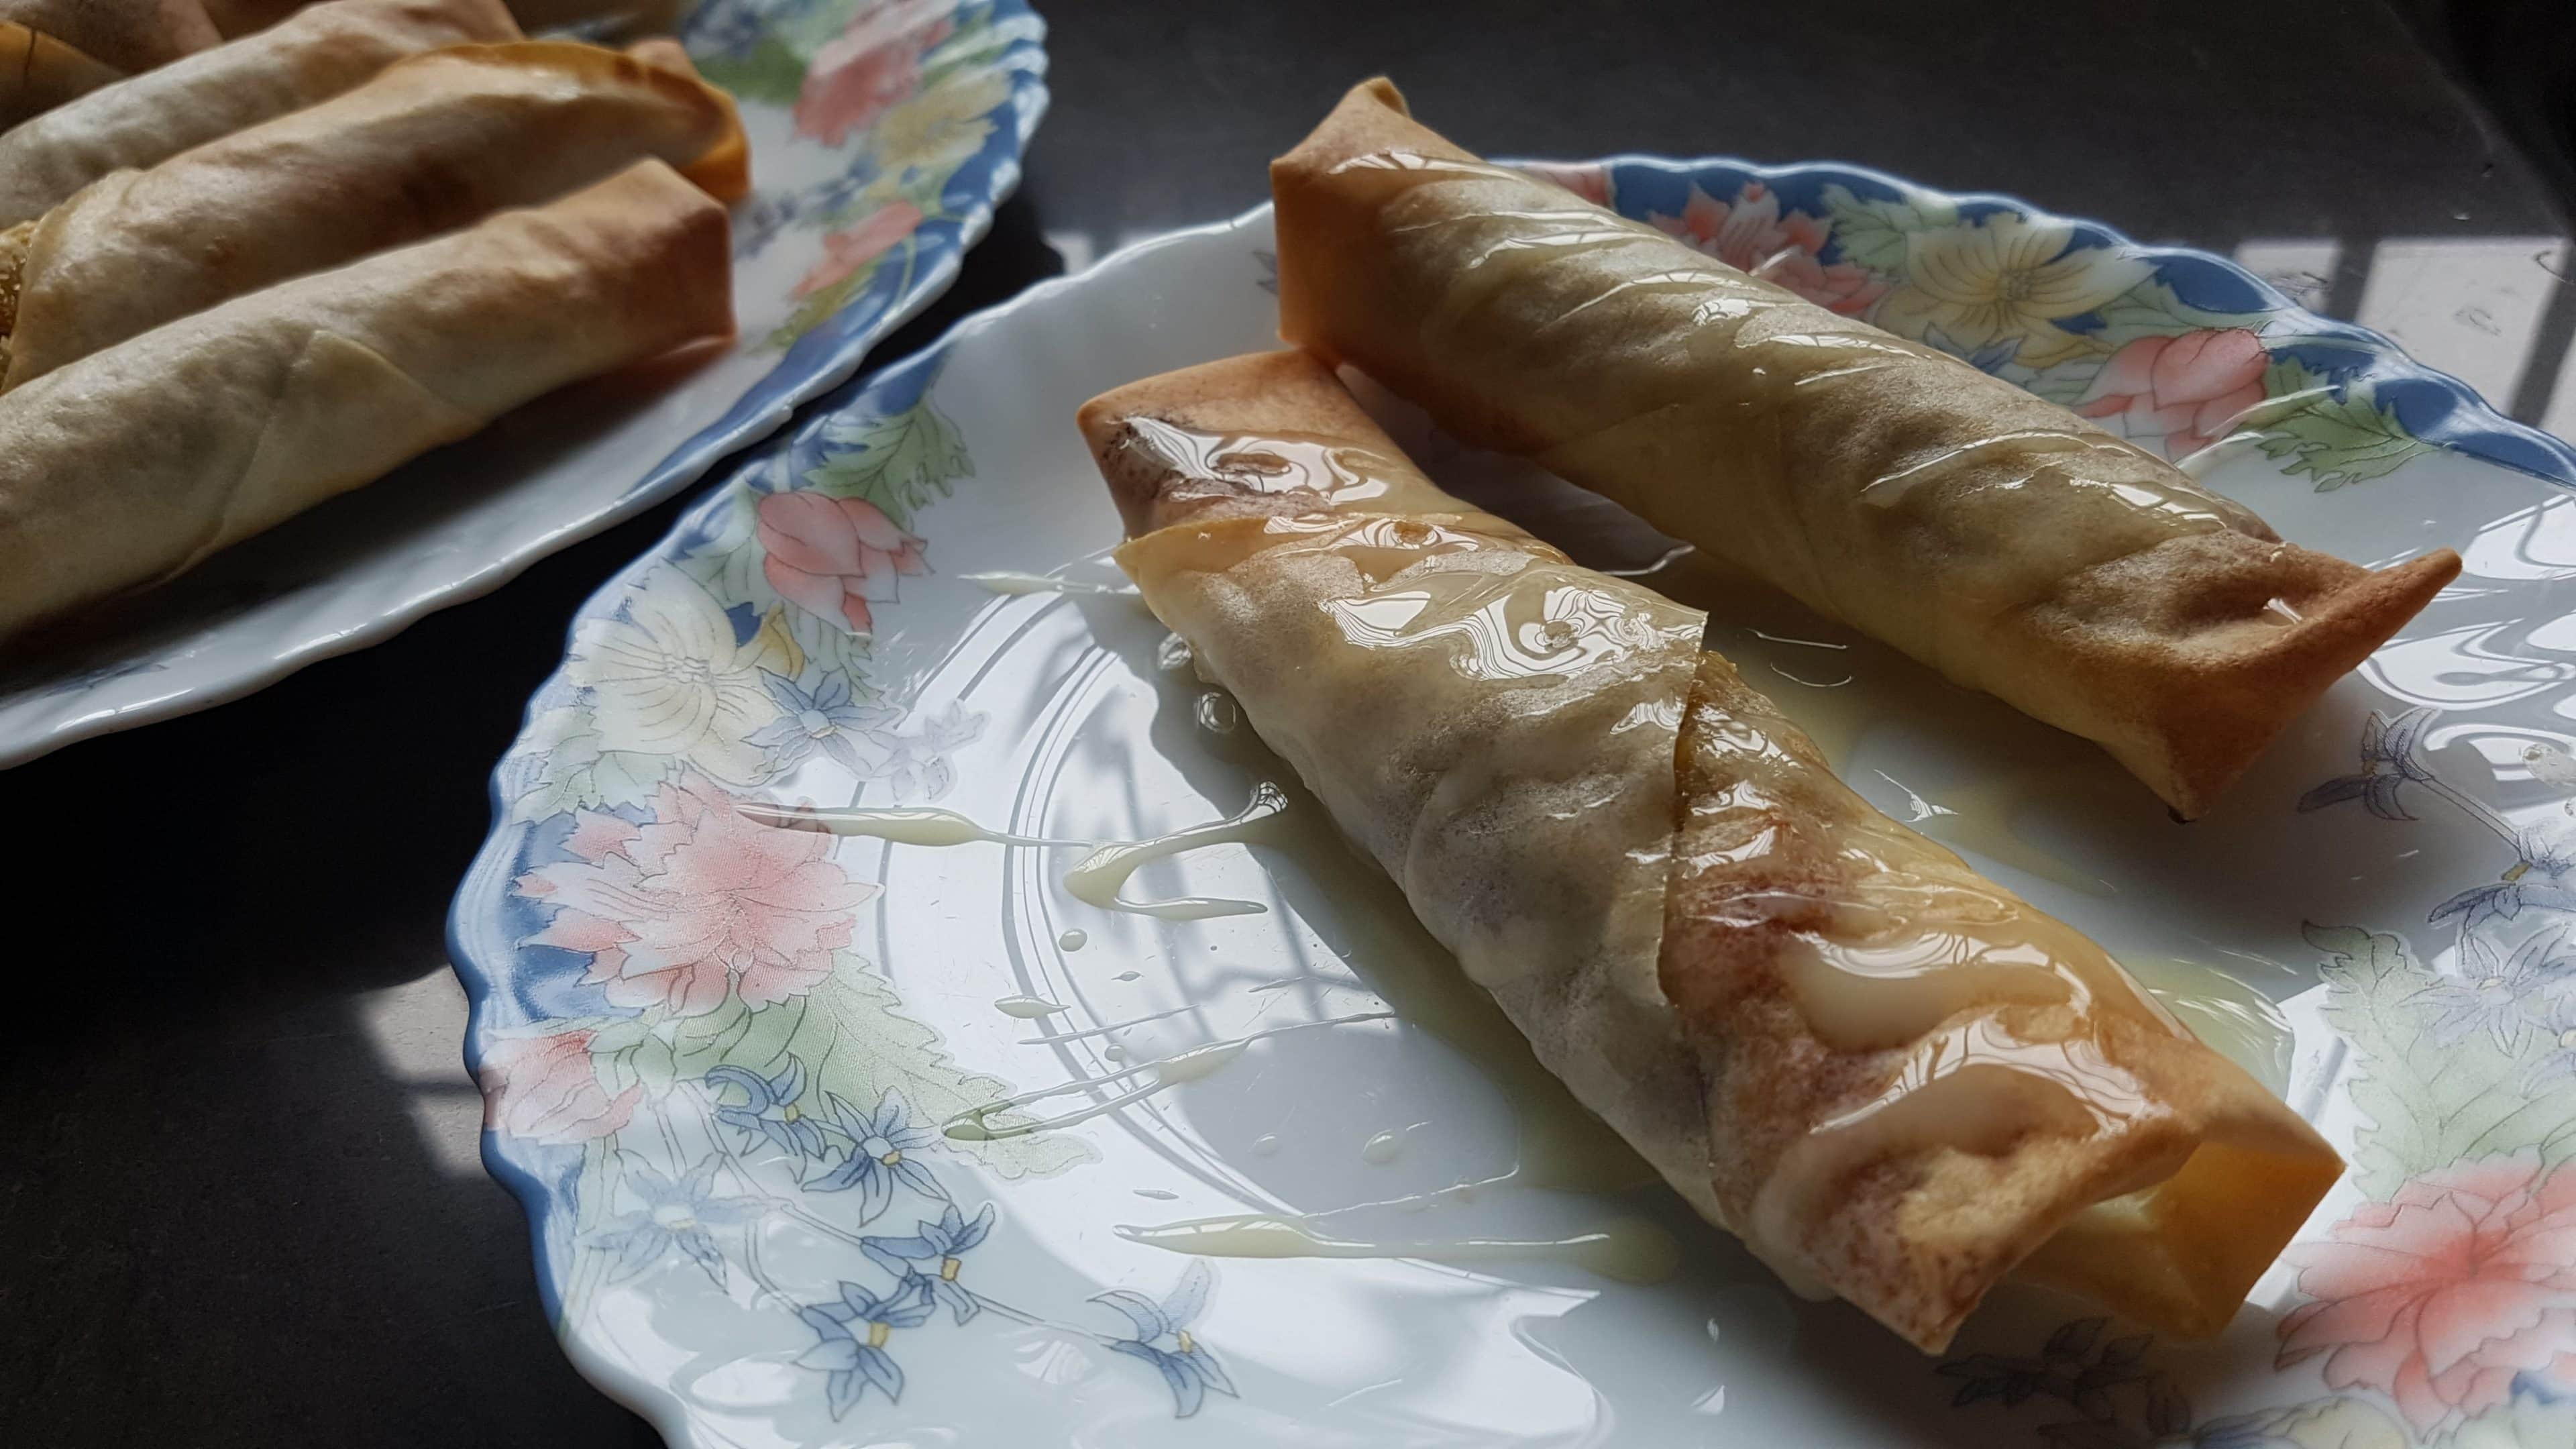
[{"label": "frontmost undrizzled spring roll on the left plate, nearest its rim", "polygon": [[726,333],[724,206],[657,160],[155,327],[0,394],[0,637]]}]

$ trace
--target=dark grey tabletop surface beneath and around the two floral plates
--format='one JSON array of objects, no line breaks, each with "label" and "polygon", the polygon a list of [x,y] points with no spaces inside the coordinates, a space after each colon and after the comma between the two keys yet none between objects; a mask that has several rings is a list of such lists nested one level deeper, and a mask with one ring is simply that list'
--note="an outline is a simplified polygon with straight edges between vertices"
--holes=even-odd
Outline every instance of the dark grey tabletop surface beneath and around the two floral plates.
[{"label": "dark grey tabletop surface beneath and around the two floral plates", "polygon": [[[2563,170],[2375,3],[1046,8],[1028,180],[884,361],[1262,201],[1262,162],[1383,70],[1499,155],[1842,157],[2148,240],[2331,242],[2326,309],[2434,353],[2509,333],[2499,405],[2576,410],[2576,289],[2522,289],[2517,317],[2372,291],[2393,237],[2530,242],[2555,273],[2568,235]],[[518,1204],[474,1163],[440,926],[572,608],[683,503],[247,701],[0,776],[0,1444],[654,1441],[556,1351]]]}]

